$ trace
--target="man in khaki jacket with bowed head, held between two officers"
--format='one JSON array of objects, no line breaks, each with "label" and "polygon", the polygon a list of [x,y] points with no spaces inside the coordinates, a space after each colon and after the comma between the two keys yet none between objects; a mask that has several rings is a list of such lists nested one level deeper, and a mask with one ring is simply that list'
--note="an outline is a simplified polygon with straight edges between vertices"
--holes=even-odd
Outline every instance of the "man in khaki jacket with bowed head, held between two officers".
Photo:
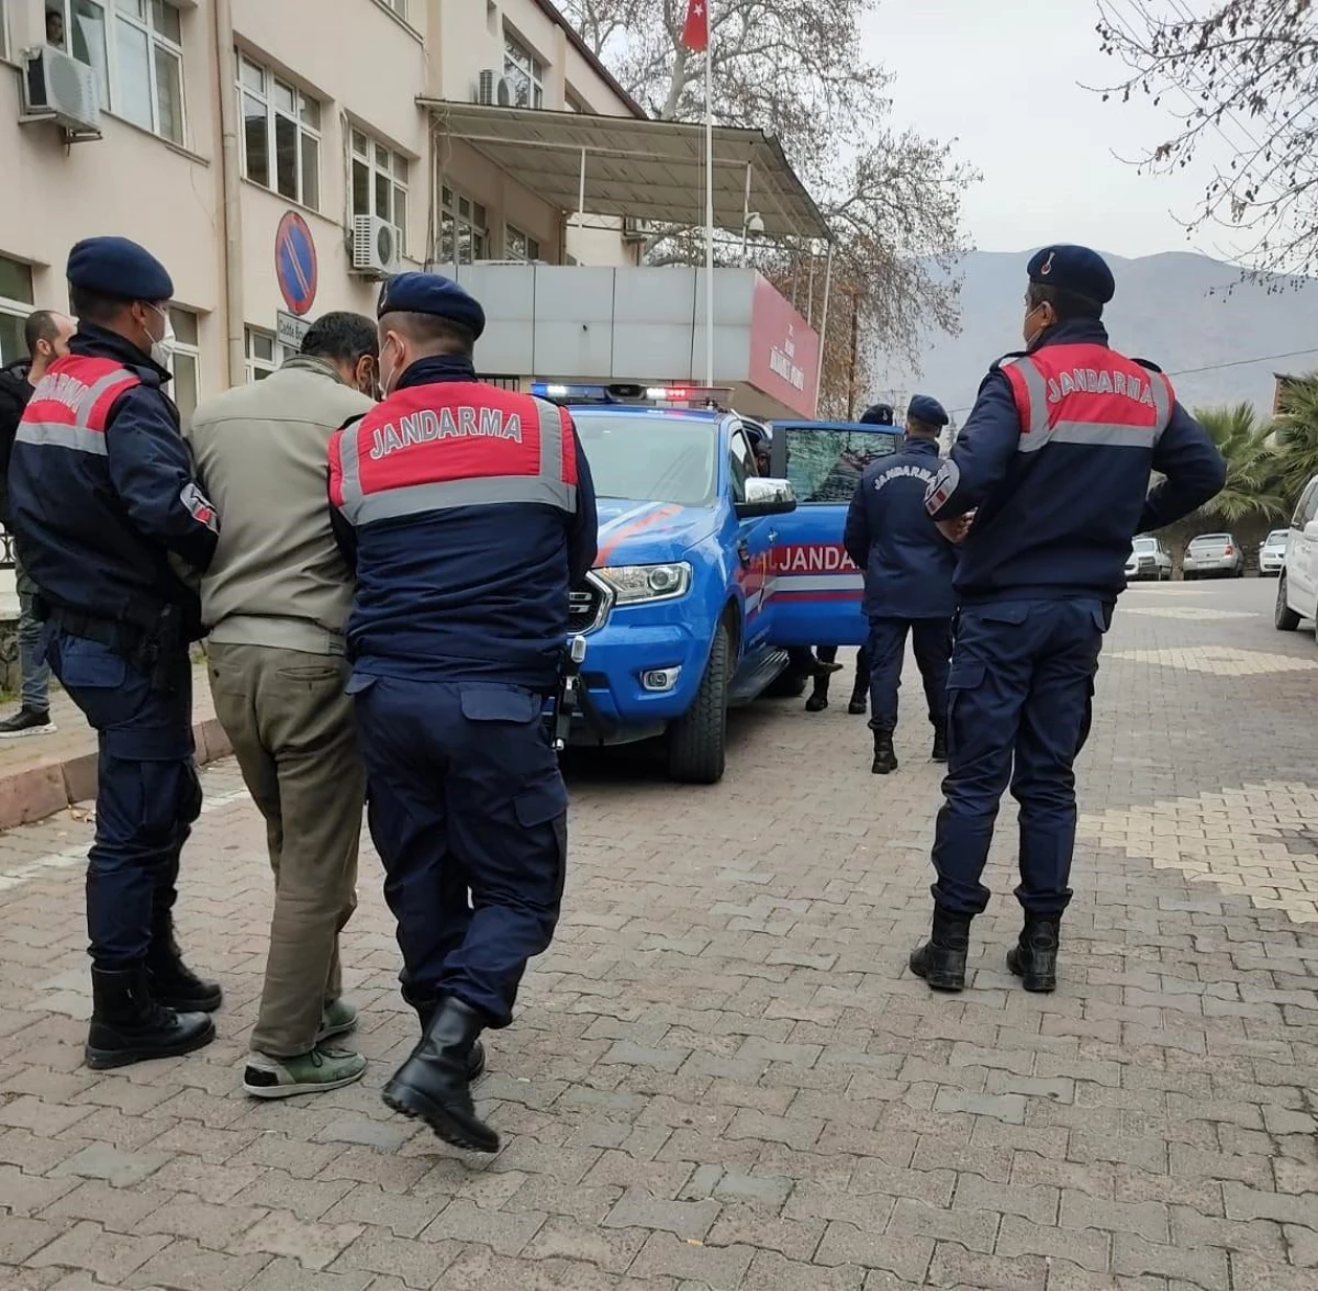
[{"label": "man in khaki jacket with bowed head, held between two officers", "polygon": [[224,518],[202,582],[215,711],[266,822],[274,918],[243,1087],[336,1089],[366,1062],[351,1031],[339,933],[356,908],[365,772],[344,694],[353,578],[330,528],[330,436],[372,406],[373,320],[327,314],[265,381],[203,403],[185,432]]}]

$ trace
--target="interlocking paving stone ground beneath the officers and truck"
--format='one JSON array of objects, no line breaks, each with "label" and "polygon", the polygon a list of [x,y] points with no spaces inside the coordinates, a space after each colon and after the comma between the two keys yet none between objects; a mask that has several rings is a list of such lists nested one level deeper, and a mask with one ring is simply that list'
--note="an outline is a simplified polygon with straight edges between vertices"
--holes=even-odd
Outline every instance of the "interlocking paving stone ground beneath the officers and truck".
[{"label": "interlocking paving stone ground beneath the officers and truck", "polygon": [[493,1159],[380,1103],[414,1022],[372,855],[366,1080],[253,1104],[269,879],[232,764],[181,902],[228,1003],[186,1059],[80,1067],[90,825],[12,830],[0,1288],[1314,1291],[1318,648],[1273,631],[1275,588],[1123,599],[1054,996],[1003,966],[1010,802],[973,989],[905,968],[940,802],[909,671],[888,780],[861,719],[799,702],[734,717],[713,789],[576,763],[563,926],[480,1087]]}]

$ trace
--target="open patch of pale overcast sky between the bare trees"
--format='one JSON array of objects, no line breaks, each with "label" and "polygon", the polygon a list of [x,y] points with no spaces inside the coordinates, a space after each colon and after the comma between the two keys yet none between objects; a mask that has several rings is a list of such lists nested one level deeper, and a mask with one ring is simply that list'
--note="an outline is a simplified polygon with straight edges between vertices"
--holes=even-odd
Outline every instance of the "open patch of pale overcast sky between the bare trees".
[{"label": "open patch of pale overcast sky between the bare trees", "polygon": [[[1095,0],[880,0],[866,36],[896,74],[894,123],[958,138],[960,155],[983,173],[965,199],[979,249],[1073,241],[1118,256],[1230,256],[1228,234],[1188,241],[1176,219],[1195,213],[1206,159],[1176,177],[1119,159],[1166,138],[1172,119],[1149,101],[1103,103],[1082,88],[1122,69],[1101,53],[1097,20]],[[1226,145],[1215,138],[1213,150]]]}]

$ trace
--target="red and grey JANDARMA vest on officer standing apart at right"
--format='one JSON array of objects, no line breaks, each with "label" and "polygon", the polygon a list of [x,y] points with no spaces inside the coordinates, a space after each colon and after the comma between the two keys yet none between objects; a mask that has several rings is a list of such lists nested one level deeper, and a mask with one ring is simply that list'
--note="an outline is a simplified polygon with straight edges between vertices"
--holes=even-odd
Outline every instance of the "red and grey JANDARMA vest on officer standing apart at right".
[{"label": "red and grey JANDARMA vest on officer standing apart at right", "polygon": [[1020,452],[1046,444],[1152,451],[1176,395],[1151,371],[1106,345],[1045,345],[1002,365],[1020,415]]}]

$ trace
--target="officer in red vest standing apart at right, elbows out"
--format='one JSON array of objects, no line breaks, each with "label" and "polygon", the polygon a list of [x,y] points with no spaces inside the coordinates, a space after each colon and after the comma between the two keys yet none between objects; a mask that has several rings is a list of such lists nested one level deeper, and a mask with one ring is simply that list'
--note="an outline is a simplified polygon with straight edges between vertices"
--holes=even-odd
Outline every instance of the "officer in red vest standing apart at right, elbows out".
[{"label": "officer in red vest standing apart at right, elbows out", "polygon": [[[970,921],[1003,790],[1020,804],[1025,922],[1007,956],[1027,991],[1057,980],[1070,901],[1077,754],[1136,534],[1207,502],[1226,464],[1152,364],[1111,349],[1111,270],[1083,246],[1028,266],[1025,350],[994,364],[927,507],[963,539],[948,680],[950,764],[933,844],[933,934],[911,968],[965,983]],[[1149,473],[1165,478],[1149,490]],[[974,512],[966,531],[965,518]]]}]

